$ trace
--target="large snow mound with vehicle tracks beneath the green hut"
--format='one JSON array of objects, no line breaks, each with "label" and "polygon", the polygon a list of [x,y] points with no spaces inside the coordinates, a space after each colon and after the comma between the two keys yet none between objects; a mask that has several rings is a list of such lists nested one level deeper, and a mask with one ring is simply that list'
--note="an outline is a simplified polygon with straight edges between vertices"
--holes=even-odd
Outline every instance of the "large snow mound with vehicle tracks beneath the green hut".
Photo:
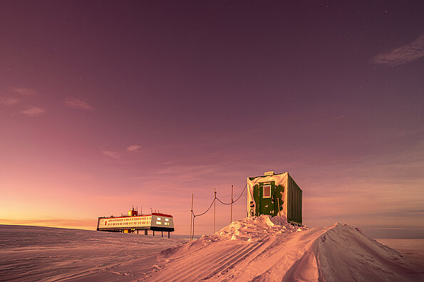
[{"label": "large snow mound with vehicle tracks beneath the green hut", "polygon": [[249,217],[162,251],[151,281],[420,281],[397,251],[346,224],[309,229]]}]

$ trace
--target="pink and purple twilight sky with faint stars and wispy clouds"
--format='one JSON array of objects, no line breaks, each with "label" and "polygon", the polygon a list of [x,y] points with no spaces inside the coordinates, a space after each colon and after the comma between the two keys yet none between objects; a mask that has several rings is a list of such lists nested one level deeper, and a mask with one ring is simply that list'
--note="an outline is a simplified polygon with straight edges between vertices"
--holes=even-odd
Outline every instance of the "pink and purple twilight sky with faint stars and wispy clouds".
[{"label": "pink and purple twilight sky with faint stars and wispy clouds", "polygon": [[1,1],[0,224],[188,234],[272,170],[308,226],[424,237],[424,3],[343,3]]}]

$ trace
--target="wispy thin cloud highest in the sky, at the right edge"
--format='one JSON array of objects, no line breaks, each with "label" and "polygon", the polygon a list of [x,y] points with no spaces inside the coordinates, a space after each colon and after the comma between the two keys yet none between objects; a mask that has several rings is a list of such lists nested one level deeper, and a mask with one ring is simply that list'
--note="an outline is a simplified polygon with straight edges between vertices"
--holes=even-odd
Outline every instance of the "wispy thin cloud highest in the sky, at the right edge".
[{"label": "wispy thin cloud highest in the sky, at the right edge", "polygon": [[424,56],[424,33],[418,36],[415,41],[395,48],[389,52],[381,53],[371,58],[371,63],[387,64],[389,66],[399,66],[409,63]]}]

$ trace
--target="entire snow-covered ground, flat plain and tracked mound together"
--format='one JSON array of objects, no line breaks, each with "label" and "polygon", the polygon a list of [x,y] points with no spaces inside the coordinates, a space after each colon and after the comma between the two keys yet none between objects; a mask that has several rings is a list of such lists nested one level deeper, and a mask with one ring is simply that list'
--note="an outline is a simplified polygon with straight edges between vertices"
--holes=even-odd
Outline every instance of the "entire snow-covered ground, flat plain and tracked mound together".
[{"label": "entire snow-covered ground, flat plain and tracked mound together", "polygon": [[[418,257],[423,241],[414,242]],[[0,225],[0,258],[0,281],[424,281],[422,263],[360,229],[309,229],[279,216],[234,221],[191,242]]]}]

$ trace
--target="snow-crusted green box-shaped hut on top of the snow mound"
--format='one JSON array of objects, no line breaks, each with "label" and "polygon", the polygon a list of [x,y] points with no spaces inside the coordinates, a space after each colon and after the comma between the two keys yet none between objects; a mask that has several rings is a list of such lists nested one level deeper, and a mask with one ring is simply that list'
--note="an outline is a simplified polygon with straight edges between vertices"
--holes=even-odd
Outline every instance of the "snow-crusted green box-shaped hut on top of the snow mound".
[{"label": "snow-crusted green box-shaped hut on top of the snow mound", "polygon": [[302,190],[289,172],[247,178],[247,216],[284,216],[302,224]]}]

